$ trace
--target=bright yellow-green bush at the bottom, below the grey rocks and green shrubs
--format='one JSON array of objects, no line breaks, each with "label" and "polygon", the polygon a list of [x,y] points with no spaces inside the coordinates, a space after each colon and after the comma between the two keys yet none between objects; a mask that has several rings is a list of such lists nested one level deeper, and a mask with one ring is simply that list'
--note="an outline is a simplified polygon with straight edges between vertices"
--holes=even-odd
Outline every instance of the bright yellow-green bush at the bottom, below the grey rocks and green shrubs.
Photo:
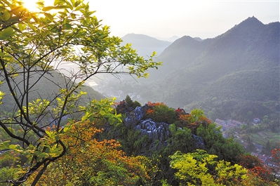
[{"label": "bright yellow-green bush at the bottom, below the grey rocks and green shrubs", "polygon": [[171,168],[175,168],[175,178],[180,185],[239,185],[246,180],[247,170],[227,161],[216,161],[216,155],[207,154],[205,150],[171,155]]}]

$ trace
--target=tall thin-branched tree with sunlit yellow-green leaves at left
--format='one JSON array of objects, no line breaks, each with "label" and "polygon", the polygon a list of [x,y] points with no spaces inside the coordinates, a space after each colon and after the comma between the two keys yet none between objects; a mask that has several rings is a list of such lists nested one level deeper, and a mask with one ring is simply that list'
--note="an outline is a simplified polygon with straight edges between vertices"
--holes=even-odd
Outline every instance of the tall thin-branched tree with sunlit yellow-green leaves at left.
[{"label": "tall thin-branched tree with sunlit yellow-green leaves at left", "polygon": [[[36,185],[48,165],[67,152],[62,137],[79,118],[119,119],[109,108],[111,100],[79,107],[79,98],[84,94],[79,88],[87,79],[98,73],[147,77],[145,71],[161,63],[152,60],[155,53],[145,60],[130,45],[121,46],[121,39],[109,36],[109,27],[101,25],[83,0],[55,0],[48,7],[40,1],[38,5],[39,12],[30,13],[21,1],[0,2],[0,84],[8,87],[0,91],[0,101],[11,95],[9,104],[14,108],[10,116],[0,117],[0,126],[21,143],[11,145],[6,141],[0,148],[14,150],[28,159],[24,172],[6,180],[13,185],[22,184],[33,173],[36,177],[31,185]],[[65,84],[58,84],[53,74],[58,73],[62,62],[77,65],[79,71],[67,77],[60,74]],[[59,91],[32,95],[41,79],[48,79]],[[62,128],[67,117],[70,122]],[[15,126],[20,126],[23,134],[13,133]],[[36,143],[27,138],[30,133],[36,136]]]}]

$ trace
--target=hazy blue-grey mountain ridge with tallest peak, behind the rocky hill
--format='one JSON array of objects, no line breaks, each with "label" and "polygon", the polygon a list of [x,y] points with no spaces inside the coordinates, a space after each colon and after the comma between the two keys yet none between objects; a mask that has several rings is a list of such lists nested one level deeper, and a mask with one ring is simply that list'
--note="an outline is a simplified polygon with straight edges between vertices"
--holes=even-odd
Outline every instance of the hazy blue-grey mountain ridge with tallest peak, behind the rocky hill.
[{"label": "hazy blue-grey mountain ridge with tallest peak, behind the rocky hill", "polygon": [[269,108],[250,117],[279,116],[279,27],[279,22],[265,25],[251,17],[212,39],[182,36],[156,58],[163,66],[124,88],[124,95],[133,90],[144,101],[201,107],[212,118],[224,119],[237,119],[234,108],[242,102],[258,102]]}]

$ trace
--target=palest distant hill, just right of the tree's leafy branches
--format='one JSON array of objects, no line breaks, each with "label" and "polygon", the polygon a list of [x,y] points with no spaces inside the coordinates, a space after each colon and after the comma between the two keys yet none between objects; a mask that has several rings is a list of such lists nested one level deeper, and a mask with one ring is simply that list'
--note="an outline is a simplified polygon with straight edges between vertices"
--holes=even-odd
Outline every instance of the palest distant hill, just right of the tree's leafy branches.
[{"label": "palest distant hill, just right of the tree's leafy branches", "polygon": [[123,39],[123,44],[132,44],[139,55],[147,57],[154,51],[156,55],[160,55],[164,49],[171,44],[169,41],[161,41],[143,34],[126,34]]}]

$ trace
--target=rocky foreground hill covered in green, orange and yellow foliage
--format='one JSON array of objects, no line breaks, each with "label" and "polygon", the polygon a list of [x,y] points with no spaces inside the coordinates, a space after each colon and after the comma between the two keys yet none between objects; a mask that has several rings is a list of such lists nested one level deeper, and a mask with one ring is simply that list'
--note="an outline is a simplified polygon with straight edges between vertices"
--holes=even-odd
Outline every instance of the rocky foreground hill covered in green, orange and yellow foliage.
[{"label": "rocky foreground hill covered in green, orange and yellow foliage", "polygon": [[[95,104],[104,107],[104,101]],[[61,135],[69,145],[67,154],[48,166],[39,185],[277,184],[275,170],[244,154],[231,138],[224,138],[201,109],[187,113],[163,102],[142,106],[129,96],[114,102],[114,107],[122,122],[109,124],[89,117],[94,124],[84,121],[69,128],[71,135]],[[95,114],[102,112],[94,110]],[[9,137],[1,140],[4,138]],[[17,142],[13,140],[13,144]],[[275,159],[279,152],[273,152]],[[26,160],[14,157],[9,150],[4,153],[0,178],[20,175],[16,166]],[[27,185],[32,179],[33,175]]]}]

